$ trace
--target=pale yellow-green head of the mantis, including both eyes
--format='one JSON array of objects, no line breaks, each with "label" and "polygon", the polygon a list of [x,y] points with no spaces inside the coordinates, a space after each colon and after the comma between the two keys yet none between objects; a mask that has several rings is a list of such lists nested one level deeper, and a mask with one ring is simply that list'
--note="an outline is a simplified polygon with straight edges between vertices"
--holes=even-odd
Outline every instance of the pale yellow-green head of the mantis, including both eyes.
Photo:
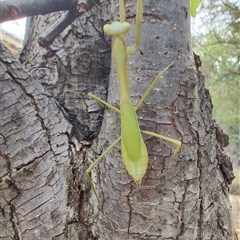
[{"label": "pale yellow-green head of the mantis, including both eyes", "polygon": [[128,22],[113,22],[105,24],[103,27],[103,31],[109,36],[126,34],[129,30],[130,24]]}]

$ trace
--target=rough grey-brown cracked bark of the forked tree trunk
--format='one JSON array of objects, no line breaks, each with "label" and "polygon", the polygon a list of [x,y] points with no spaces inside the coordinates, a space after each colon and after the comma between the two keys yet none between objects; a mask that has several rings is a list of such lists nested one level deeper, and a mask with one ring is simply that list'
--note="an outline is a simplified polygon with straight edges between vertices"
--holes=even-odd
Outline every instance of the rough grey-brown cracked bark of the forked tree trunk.
[{"label": "rough grey-brown cracked bark of the forked tree trunk", "polygon": [[[127,3],[132,43],[135,4]],[[102,8],[117,15],[116,4]],[[103,118],[87,97],[106,99],[108,91],[119,102],[113,64],[108,81],[106,16],[94,8],[40,47],[38,36],[60,15],[29,21],[21,63],[1,45],[0,238],[233,240],[228,141],[194,61],[189,2],[145,1],[141,46],[129,60],[136,103],[181,51],[138,112],[142,129],[180,139],[181,151],[171,159],[173,146],[146,137],[150,162],[137,189],[114,148],[92,173],[100,212],[85,170],[120,134],[119,116],[106,109]]]}]

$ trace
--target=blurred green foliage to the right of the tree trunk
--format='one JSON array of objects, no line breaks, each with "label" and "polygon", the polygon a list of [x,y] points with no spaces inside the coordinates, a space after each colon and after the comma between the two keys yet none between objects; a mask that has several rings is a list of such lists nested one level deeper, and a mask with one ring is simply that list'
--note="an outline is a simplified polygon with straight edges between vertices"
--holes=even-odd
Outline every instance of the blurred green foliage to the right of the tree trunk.
[{"label": "blurred green foliage to the right of the tree trunk", "polygon": [[240,1],[203,0],[195,25],[194,51],[202,60],[214,118],[230,137],[240,163]]}]

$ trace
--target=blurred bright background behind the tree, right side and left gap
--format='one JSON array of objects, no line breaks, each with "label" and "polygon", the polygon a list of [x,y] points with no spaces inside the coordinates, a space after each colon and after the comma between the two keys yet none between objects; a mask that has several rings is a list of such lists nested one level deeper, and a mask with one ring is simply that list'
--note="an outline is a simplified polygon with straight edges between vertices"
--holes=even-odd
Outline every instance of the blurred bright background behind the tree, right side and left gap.
[{"label": "blurred bright background behind the tree, right side and left gap", "polygon": [[[15,56],[24,41],[26,19],[0,24],[0,39]],[[192,45],[202,61],[213,107],[213,117],[229,135],[227,154],[234,164],[235,179],[230,200],[240,236],[240,1],[202,0],[192,18]]]}]

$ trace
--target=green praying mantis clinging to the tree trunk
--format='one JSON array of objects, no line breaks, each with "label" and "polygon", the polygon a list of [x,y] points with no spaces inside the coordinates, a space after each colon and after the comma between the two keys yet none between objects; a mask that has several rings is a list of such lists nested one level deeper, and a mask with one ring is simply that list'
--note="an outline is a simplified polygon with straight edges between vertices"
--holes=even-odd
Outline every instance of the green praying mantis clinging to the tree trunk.
[{"label": "green praying mantis clinging to the tree trunk", "polygon": [[129,55],[137,49],[140,43],[142,31],[143,1],[137,0],[136,37],[135,44],[132,46],[127,46],[125,42],[125,35],[130,30],[130,24],[126,22],[124,0],[119,0],[119,12],[120,21],[115,21],[111,24],[104,25],[103,30],[107,35],[112,36],[112,58],[114,59],[117,70],[120,109],[112,106],[108,102],[103,101],[92,93],[89,93],[89,96],[91,98],[93,98],[100,104],[109,107],[113,111],[119,113],[121,118],[121,136],[117,138],[105,151],[103,151],[102,154],[86,170],[88,181],[94,191],[98,203],[100,203],[100,199],[91,180],[90,172],[104,158],[104,156],[120,141],[123,164],[128,174],[133,178],[137,185],[141,184],[141,181],[148,167],[148,152],[142,137],[142,133],[163,139],[176,145],[176,149],[172,157],[174,157],[181,148],[181,142],[178,140],[154,132],[140,130],[136,115],[137,110],[147,98],[153,87],[160,80],[160,78],[162,78],[163,73],[173,64],[176,58],[156,76],[152,84],[149,86],[142,98],[139,100],[136,107],[134,107],[130,99],[127,65]]}]

